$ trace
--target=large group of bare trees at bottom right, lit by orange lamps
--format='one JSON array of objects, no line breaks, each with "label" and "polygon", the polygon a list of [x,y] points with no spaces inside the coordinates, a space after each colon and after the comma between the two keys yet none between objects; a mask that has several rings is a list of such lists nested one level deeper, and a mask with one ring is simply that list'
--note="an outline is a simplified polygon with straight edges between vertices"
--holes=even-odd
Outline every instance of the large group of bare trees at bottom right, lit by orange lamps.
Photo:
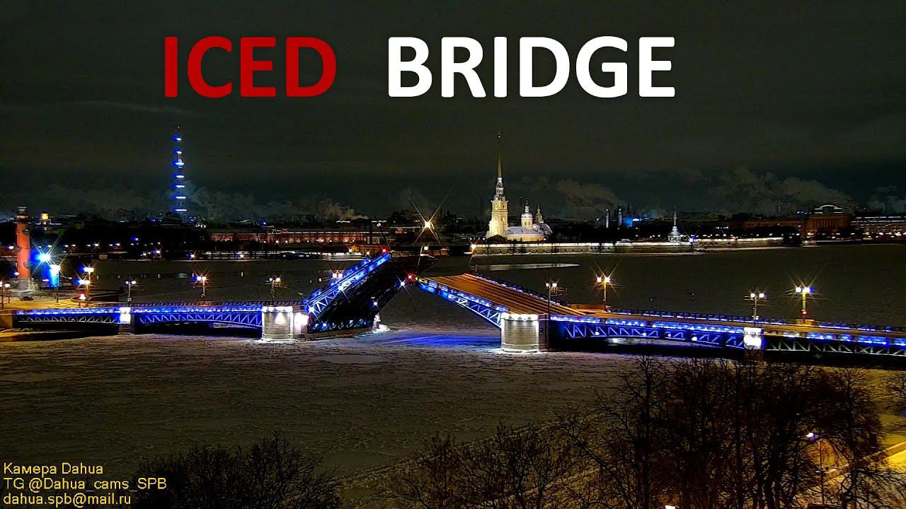
[{"label": "large group of bare trees at bottom right, lit by orange lamps", "polygon": [[432,440],[390,488],[404,507],[906,507],[863,370],[643,358],[593,408]]}]

